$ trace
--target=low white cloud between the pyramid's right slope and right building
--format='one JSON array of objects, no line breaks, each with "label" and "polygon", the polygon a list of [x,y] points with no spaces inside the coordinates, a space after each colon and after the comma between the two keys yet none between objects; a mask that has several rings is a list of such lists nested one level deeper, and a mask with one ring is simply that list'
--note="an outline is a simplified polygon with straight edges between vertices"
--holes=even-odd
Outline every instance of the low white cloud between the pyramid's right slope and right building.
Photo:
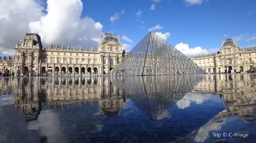
[{"label": "low white cloud between the pyramid's right slope and right building", "polygon": [[201,47],[189,48],[188,44],[183,43],[177,44],[175,48],[185,54],[187,57],[208,54],[207,49],[202,49]]}]

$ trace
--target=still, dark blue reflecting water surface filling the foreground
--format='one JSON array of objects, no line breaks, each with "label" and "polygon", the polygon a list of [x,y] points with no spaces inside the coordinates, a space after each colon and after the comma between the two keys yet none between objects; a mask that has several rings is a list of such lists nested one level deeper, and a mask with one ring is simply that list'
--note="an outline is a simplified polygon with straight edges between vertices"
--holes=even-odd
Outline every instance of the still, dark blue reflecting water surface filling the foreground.
[{"label": "still, dark blue reflecting water surface filling the foreground", "polygon": [[255,78],[1,77],[0,143],[253,143]]}]

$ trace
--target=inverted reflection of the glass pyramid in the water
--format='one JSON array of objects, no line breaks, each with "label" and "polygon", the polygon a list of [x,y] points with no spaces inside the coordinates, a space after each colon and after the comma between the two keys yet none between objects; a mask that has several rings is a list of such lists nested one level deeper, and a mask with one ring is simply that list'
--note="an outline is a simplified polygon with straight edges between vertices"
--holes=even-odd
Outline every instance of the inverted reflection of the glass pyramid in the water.
[{"label": "inverted reflection of the glass pyramid in the water", "polygon": [[125,89],[126,98],[151,120],[156,120],[165,110],[172,108],[176,102],[191,91],[201,77],[196,76],[145,76],[125,77],[127,82],[115,82]]}]

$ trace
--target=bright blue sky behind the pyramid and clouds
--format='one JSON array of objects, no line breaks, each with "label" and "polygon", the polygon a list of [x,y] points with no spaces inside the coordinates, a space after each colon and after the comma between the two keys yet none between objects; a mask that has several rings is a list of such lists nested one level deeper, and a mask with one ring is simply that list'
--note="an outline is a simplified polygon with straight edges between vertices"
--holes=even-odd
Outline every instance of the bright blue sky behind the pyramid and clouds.
[{"label": "bright blue sky behind the pyramid and clouds", "polygon": [[[190,1],[194,3],[189,3]],[[197,1],[199,4],[196,3]],[[46,9],[46,0],[43,2],[44,4],[40,4]],[[183,49],[182,52],[185,54],[217,52],[221,41],[229,37],[238,38],[240,48],[256,46],[256,1],[254,0],[99,0],[97,2],[82,0],[82,2],[83,10],[80,18],[89,16],[95,22],[101,23],[103,33],[112,32],[120,35],[122,44],[130,45],[127,50],[131,50],[150,28],[157,25],[161,29],[155,29],[153,32],[169,32],[167,42],[174,47],[180,44],[179,50]],[[155,5],[154,10],[151,10],[152,4]],[[64,7],[63,11],[69,11]],[[137,15],[139,11],[141,14]],[[111,16],[116,13],[119,14],[118,18],[111,21]],[[44,14],[47,12],[44,11]],[[95,35],[97,33],[98,31]],[[25,36],[25,33],[22,35]],[[122,39],[123,35],[130,40]],[[202,49],[194,49],[195,47]],[[1,51],[0,55],[8,54],[3,54]]]}]

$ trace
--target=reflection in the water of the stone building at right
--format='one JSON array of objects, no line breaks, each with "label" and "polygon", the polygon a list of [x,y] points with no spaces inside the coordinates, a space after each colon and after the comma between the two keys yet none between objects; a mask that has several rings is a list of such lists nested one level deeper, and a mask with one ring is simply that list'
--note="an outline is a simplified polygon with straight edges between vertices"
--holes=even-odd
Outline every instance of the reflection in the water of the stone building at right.
[{"label": "reflection in the water of the stone building at right", "polygon": [[228,109],[221,111],[213,121],[229,115],[239,115],[245,122],[255,122],[255,78],[255,74],[207,75],[195,86],[193,91],[215,92],[221,95],[223,103]]}]

